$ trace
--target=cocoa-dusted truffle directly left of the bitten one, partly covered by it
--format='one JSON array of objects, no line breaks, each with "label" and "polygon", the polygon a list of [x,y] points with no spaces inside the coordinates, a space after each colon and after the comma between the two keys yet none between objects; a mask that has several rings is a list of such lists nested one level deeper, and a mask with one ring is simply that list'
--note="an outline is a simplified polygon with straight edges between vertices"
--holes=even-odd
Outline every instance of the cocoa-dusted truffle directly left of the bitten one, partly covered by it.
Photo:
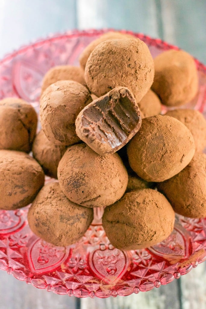
[{"label": "cocoa-dusted truffle directly left of the bitten one, partly covered by it", "polygon": [[57,145],[79,142],[75,120],[91,101],[88,89],[74,81],[62,80],[47,87],[40,99],[40,121],[49,141]]}]

